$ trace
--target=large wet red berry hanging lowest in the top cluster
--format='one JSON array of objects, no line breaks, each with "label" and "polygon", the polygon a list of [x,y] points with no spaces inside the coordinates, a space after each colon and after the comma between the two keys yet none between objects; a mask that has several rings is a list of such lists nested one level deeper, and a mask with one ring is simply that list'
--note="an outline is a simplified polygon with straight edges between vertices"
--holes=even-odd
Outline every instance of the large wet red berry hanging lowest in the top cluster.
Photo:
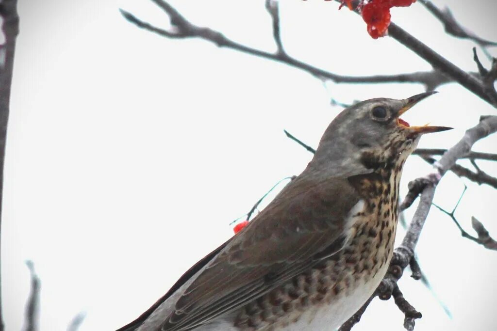
[{"label": "large wet red berry hanging lowest in the top cluster", "polygon": [[362,19],[368,25],[368,33],[373,39],[383,37],[390,25],[390,3],[368,2],[362,7]]}]

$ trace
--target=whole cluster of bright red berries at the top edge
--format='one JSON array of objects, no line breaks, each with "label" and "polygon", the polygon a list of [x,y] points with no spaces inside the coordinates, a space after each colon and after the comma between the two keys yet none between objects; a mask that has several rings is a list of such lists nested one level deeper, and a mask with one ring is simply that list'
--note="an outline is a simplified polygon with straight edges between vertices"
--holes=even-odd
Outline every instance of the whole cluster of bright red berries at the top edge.
[{"label": "whole cluster of bright red berries at the top edge", "polygon": [[[352,0],[342,0],[342,5],[352,8]],[[359,8],[362,19],[368,25],[368,33],[373,39],[385,36],[390,25],[390,8],[409,7],[416,0],[369,0],[361,1]]]}]

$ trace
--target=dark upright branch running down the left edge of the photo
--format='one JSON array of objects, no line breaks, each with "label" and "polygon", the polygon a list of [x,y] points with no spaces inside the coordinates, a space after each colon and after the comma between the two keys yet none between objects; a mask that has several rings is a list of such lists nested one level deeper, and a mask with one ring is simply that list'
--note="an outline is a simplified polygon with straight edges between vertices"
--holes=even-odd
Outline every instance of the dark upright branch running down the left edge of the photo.
[{"label": "dark upright branch running down the left edge of the photo", "polygon": [[[12,82],[12,68],[14,63],[15,38],[19,32],[19,16],[17,15],[17,0],[2,0],[0,2],[0,16],[3,22],[1,33],[5,43],[0,45],[0,215],[3,198],[3,163],[5,159],[5,138],[10,103],[10,85]],[[0,219],[1,226],[1,219]],[[1,230],[0,230],[1,236]],[[0,280],[1,283],[1,280]],[[1,313],[0,289],[0,331],[3,331]]]}]

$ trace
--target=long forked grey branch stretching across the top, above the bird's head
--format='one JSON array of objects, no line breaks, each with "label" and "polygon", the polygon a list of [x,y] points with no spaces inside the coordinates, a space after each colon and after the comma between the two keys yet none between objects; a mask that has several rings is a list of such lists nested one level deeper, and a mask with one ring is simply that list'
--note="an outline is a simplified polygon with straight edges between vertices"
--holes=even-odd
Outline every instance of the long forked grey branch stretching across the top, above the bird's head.
[{"label": "long forked grey branch stretching across the top, above the bird's head", "polygon": [[[129,22],[135,24],[139,28],[145,29],[147,31],[157,33],[160,36],[167,38],[200,38],[206,41],[212,42],[219,47],[227,47],[233,50],[247,53],[253,56],[277,61],[284,63],[288,66],[293,66],[295,68],[309,72],[310,74],[319,77],[321,79],[330,79],[336,83],[420,83],[425,86],[427,90],[434,90],[437,86],[453,82],[454,79],[441,71],[431,70],[431,71],[417,71],[410,73],[401,73],[394,75],[372,75],[372,76],[345,76],[332,73],[330,71],[318,68],[316,66],[311,66],[305,62],[299,61],[291,56],[289,56],[283,48],[281,37],[280,37],[280,25],[279,25],[279,14],[277,10],[277,4],[274,0],[266,1],[266,8],[269,11],[272,19],[273,26],[273,38],[277,46],[276,53],[269,53],[261,50],[257,50],[242,44],[239,44],[227,37],[225,37],[221,32],[207,28],[199,27],[184,18],[176,9],[174,9],[166,1],[162,0],[152,0],[157,5],[159,5],[169,16],[171,24],[174,26],[174,30],[167,31],[159,27],[153,26],[147,22],[144,22],[133,14],[121,9],[121,14]],[[478,77],[478,72],[467,73],[470,76]],[[476,78],[475,78],[476,79]]]}]

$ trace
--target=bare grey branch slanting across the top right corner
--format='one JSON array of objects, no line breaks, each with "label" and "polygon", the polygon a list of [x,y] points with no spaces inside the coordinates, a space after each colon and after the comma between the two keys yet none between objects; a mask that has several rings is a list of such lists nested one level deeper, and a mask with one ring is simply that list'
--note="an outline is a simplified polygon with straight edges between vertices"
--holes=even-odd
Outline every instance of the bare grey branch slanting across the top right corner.
[{"label": "bare grey branch slanting across the top right corner", "polygon": [[419,2],[421,2],[426,7],[426,9],[428,9],[436,18],[438,18],[440,22],[442,22],[445,28],[445,32],[447,32],[448,34],[463,39],[471,39],[482,47],[497,46],[496,42],[482,39],[475,35],[473,32],[461,26],[461,24],[456,21],[454,15],[452,15],[452,12],[448,7],[444,8],[444,10],[441,10],[431,1],[419,0]]}]

